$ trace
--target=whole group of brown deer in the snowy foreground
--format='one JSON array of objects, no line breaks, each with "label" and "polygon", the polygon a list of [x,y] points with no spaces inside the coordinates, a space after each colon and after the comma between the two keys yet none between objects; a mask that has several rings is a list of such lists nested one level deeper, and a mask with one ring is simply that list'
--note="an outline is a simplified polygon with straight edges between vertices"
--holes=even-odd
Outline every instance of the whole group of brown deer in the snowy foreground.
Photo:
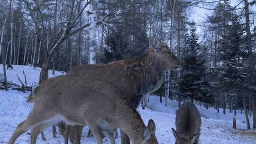
[{"label": "whole group of brown deer in the snowy foreground", "polygon": [[[181,69],[181,61],[156,36],[146,53],[135,59],[79,65],[65,76],[42,82],[31,93],[33,109],[8,144],[29,129],[30,144],[36,144],[37,135],[61,121],[89,126],[97,144],[102,144],[103,134],[115,144],[116,129],[120,129],[122,144],[129,139],[133,144],[158,144],[154,121],[150,119],[146,126],[136,108],[143,96],[161,86],[163,72]],[[184,103],[176,114],[176,131],[172,128],[175,144],[199,144],[198,109]]]}]

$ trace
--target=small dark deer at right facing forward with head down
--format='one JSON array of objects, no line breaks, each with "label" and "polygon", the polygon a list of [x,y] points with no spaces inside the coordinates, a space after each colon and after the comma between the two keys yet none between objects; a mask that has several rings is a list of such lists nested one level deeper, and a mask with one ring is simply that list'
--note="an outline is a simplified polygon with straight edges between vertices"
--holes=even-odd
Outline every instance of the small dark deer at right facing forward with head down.
[{"label": "small dark deer at right facing forward with head down", "polygon": [[184,103],[176,111],[176,129],[172,128],[175,144],[199,144],[201,115],[192,103]]}]

